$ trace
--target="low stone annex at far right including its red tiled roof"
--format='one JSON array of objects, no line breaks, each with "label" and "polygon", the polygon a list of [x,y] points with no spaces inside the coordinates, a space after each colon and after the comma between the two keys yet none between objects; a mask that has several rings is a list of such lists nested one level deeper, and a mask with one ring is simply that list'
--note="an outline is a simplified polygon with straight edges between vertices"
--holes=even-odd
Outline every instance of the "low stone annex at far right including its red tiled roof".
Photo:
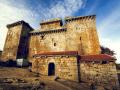
[{"label": "low stone annex at far right including its red tiled roof", "polygon": [[81,81],[109,87],[119,86],[114,58],[109,55],[81,56]]}]

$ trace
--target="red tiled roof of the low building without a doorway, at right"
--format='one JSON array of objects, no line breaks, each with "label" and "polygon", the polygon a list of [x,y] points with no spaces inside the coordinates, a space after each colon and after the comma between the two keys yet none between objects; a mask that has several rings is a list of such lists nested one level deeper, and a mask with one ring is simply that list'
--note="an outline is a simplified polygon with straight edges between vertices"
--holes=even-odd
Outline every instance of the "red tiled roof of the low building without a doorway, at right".
[{"label": "red tiled roof of the low building without a doorway, at right", "polygon": [[83,55],[80,56],[81,61],[99,61],[99,60],[116,60],[114,57],[107,54],[99,55]]}]

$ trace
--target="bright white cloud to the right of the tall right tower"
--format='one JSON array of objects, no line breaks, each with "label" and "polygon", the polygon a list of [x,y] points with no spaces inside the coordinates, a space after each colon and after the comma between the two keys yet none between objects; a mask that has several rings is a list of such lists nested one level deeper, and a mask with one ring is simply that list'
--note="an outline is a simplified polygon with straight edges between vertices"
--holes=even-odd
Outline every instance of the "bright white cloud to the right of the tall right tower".
[{"label": "bright white cloud to the right of the tall right tower", "polygon": [[120,63],[120,12],[119,7],[105,17],[98,25],[99,38],[102,45],[116,52],[117,63]]}]

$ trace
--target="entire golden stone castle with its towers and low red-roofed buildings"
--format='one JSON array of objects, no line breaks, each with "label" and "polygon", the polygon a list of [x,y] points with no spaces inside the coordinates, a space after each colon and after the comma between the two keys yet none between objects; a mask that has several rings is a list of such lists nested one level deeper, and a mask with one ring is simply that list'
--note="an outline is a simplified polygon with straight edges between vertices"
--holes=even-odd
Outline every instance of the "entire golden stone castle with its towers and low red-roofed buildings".
[{"label": "entire golden stone castle with its towers and low red-roofed buildings", "polygon": [[118,86],[115,58],[101,54],[96,16],[42,21],[34,30],[19,21],[7,25],[3,62],[25,59],[32,71],[72,81]]}]

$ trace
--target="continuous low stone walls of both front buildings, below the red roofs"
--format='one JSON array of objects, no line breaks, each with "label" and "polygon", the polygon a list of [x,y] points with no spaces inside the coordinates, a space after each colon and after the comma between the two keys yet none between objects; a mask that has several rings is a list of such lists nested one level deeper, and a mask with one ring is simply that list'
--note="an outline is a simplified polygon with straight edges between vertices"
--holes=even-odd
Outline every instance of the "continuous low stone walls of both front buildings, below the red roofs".
[{"label": "continuous low stone walls of both front buildings, below the red roofs", "polygon": [[114,61],[84,61],[76,55],[54,55],[34,57],[32,71],[49,75],[49,64],[55,65],[55,74],[63,79],[83,81],[104,87],[118,87],[118,76]]}]

